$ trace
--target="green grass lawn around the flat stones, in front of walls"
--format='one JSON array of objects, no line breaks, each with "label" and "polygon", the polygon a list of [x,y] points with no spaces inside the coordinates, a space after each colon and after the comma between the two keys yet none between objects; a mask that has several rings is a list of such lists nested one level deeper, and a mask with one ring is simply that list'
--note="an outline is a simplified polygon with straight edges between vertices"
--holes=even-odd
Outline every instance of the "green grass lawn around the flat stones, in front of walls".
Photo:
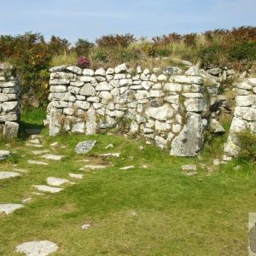
[{"label": "green grass lawn around the flat stones, in front of walls", "polygon": [[[41,125],[41,113],[24,113],[22,131]],[[16,151],[15,157],[1,163],[1,170],[11,171],[17,165],[29,171],[0,181],[0,203],[20,203],[32,196],[25,208],[0,216],[0,255],[18,255],[15,247],[33,240],[57,243],[60,248],[53,255],[247,255],[247,214],[256,212],[255,166],[233,160],[211,173],[200,166],[212,166],[212,160],[222,154],[224,137],[215,138],[212,154],[210,143],[199,160],[172,157],[129,137],[48,137],[47,132],[44,129],[44,148],[58,142],[66,148],[53,148],[52,154],[67,155],[61,162],[45,160],[49,166],[27,165],[27,160],[42,159],[31,152],[37,148],[25,146],[24,134],[0,143],[0,149],[8,143]],[[96,139],[96,147],[90,154],[75,154],[76,143],[86,139]],[[109,143],[113,148],[105,149]],[[96,157],[108,152],[121,156]],[[79,167],[86,163],[79,160],[83,159],[113,166],[82,172]],[[184,164],[196,164],[199,174],[184,176]],[[136,168],[119,170],[130,165]],[[235,171],[237,165],[241,168]],[[71,179],[69,172],[84,173],[84,178],[59,194],[32,195],[33,184],[46,184],[49,176]],[[85,223],[92,227],[81,230]]]}]

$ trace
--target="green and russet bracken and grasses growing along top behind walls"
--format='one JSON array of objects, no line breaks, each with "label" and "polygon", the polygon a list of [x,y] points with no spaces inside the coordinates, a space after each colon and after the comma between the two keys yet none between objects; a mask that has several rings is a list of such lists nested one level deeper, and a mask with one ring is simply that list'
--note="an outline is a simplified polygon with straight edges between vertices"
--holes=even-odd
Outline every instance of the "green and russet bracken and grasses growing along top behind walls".
[{"label": "green and russet bracken and grasses growing along top behind walls", "polygon": [[79,38],[71,46],[65,38],[52,36],[45,42],[40,33],[0,36],[0,61],[9,61],[20,75],[23,95],[36,97],[47,104],[49,67],[76,65],[79,56],[90,59],[91,67],[114,67],[120,62],[131,66],[152,62],[155,57],[182,58],[209,64],[231,64],[241,71],[256,60],[256,27],[241,26],[231,30],[217,29],[202,34],[180,35],[175,32],[137,40],[132,34],[105,35],[96,44]]}]

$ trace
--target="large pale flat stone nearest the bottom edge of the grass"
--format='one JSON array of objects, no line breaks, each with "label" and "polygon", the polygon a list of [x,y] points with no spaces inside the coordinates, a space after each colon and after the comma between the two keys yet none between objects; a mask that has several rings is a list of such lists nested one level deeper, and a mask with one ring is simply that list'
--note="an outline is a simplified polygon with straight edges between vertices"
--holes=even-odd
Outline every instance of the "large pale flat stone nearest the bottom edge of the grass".
[{"label": "large pale flat stone nearest the bottom edge of the grass", "polygon": [[27,241],[16,247],[17,253],[25,253],[27,256],[47,256],[55,253],[58,246],[52,241]]}]

